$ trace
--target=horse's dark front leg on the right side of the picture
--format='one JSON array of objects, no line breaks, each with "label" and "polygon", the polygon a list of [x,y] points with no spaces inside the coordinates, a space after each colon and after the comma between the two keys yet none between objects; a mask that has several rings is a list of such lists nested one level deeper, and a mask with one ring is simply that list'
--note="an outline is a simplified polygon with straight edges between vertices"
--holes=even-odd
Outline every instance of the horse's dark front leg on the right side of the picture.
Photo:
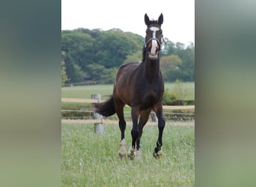
[{"label": "horse's dark front leg on the right side of the picture", "polygon": [[158,118],[159,135],[156,141],[156,148],[153,152],[153,156],[155,158],[160,158],[162,156],[162,132],[163,129],[165,128],[165,119],[162,115],[162,104],[156,105],[154,111],[156,112],[156,117]]}]

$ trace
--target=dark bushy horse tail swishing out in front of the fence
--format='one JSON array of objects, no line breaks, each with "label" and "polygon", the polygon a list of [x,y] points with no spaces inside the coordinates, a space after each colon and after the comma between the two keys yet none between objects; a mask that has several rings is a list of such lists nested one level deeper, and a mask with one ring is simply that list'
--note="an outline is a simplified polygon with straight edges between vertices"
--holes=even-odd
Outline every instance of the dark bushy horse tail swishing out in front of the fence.
[{"label": "dark bushy horse tail swishing out in front of the fence", "polygon": [[106,102],[94,103],[94,111],[103,116],[115,114],[114,96],[112,95]]}]

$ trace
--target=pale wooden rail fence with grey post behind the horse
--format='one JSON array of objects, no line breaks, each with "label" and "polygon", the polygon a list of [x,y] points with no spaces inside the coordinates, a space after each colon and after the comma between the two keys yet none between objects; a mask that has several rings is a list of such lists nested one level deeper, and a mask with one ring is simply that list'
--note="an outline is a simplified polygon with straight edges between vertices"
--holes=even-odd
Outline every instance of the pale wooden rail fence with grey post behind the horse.
[{"label": "pale wooden rail fence with grey post behind the horse", "polygon": [[[91,95],[92,99],[76,99],[76,98],[61,98],[61,102],[80,102],[80,103],[97,103],[97,102],[104,102],[104,100],[101,100],[100,94],[94,94]],[[129,107],[128,105],[126,105]],[[195,105],[163,105],[163,109],[165,110],[184,110],[184,109],[195,109]],[[95,131],[101,131],[103,130],[103,123],[106,124],[116,124],[118,125],[117,120],[109,120],[105,119],[100,114],[95,113],[94,111],[90,111],[93,114],[93,120],[71,120],[71,119],[62,119],[61,123],[75,123],[75,124],[84,124],[84,123],[94,123],[94,129]],[[131,121],[127,121],[127,125],[132,124]],[[147,125],[156,125],[156,122],[147,122]]]}]

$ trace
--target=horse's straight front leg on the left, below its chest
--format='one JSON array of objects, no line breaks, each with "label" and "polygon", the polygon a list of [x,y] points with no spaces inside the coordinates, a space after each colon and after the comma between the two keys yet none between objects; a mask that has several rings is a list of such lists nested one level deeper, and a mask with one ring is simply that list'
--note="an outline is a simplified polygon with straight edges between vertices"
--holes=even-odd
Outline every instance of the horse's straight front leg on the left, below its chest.
[{"label": "horse's straight front leg on the left, below its chest", "polygon": [[134,159],[135,143],[138,139],[138,107],[132,107],[132,145],[129,147],[127,156]]}]

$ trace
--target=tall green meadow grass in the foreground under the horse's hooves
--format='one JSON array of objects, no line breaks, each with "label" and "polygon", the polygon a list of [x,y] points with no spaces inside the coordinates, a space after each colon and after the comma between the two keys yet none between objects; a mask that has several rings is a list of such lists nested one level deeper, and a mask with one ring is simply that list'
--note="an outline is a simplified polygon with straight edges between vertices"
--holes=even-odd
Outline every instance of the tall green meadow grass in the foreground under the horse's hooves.
[{"label": "tall green meadow grass in the foreground under the horse's hooves", "polygon": [[62,186],[195,186],[194,126],[165,126],[161,159],[153,158],[157,126],[145,126],[140,161],[119,158],[121,132],[115,125],[104,125],[104,134],[96,135],[94,125],[62,124],[61,136]]}]

